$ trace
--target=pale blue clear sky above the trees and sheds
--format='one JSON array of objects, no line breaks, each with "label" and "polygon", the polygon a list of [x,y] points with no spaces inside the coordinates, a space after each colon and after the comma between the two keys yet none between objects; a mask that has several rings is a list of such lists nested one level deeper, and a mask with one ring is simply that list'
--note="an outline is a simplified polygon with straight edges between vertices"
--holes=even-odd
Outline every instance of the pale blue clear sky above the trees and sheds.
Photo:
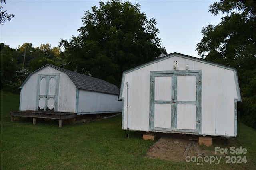
[{"label": "pale blue clear sky above the trees and sheds", "polygon": [[[104,2],[104,0],[102,0]],[[33,47],[50,44],[57,47],[61,39],[78,36],[83,27],[82,17],[98,0],[6,0],[3,10],[15,18],[0,26],[0,42],[16,49],[24,43]],[[124,2],[124,0],[123,0]],[[221,16],[209,11],[212,0],[130,0],[139,3],[147,19],[155,18],[160,30],[158,37],[168,54],[177,52],[199,57],[196,44],[203,35],[202,28],[218,25]]]}]

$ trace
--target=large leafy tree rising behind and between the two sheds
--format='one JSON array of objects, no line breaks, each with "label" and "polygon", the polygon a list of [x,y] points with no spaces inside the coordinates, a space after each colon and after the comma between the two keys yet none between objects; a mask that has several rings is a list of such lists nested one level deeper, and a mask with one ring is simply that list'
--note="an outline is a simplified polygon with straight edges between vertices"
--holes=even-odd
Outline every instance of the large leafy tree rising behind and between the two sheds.
[{"label": "large leafy tree rising behind and between the two sheds", "polygon": [[119,85],[123,71],[158,58],[163,50],[156,20],[148,20],[138,3],[100,2],[82,21],[77,37],[60,41],[70,70]]}]

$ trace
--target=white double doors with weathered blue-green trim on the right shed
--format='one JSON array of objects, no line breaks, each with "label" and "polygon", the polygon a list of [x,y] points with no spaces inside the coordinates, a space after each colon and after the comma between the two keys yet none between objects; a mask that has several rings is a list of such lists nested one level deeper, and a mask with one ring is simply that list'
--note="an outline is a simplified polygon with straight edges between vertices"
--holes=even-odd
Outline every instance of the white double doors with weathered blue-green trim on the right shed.
[{"label": "white double doors with weathered blue-green trim on the right shed", "polygon": [[200,132],[201,71],[150,72],[150,131]]}]

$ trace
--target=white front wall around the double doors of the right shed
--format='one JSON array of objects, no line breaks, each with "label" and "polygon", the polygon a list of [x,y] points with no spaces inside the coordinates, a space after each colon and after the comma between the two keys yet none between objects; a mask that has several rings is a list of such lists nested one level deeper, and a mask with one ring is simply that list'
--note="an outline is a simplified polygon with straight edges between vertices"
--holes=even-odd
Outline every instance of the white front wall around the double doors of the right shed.
[{"label": "white front wall around the double doors of the right shed", "polygon": [[122,128],[127,129],[128,124],[130,130],[149,130],[150,71],[173,70],[175,60],[178,62],[177,70],[186,70],[186,64],[189,70],[202,70],[201,133],[235,136],[234,99],[238,98],[238,94],[234,70],[178,56],[124,74],[120,93],[120,98],[124,102]]}]

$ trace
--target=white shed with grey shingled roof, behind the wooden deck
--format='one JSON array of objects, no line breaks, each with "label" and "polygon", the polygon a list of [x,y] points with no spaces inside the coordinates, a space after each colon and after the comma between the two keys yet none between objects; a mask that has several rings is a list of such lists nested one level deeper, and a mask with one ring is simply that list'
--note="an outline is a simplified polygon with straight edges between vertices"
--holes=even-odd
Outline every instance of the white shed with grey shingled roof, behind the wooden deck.
[{"label": "white shed with grey shingled roof, behind the wooden deck", "polygon": [[20,88],[21,111],[77,115],[122,111],[119,89],[114,84],[51,64],[29,74]]}]

